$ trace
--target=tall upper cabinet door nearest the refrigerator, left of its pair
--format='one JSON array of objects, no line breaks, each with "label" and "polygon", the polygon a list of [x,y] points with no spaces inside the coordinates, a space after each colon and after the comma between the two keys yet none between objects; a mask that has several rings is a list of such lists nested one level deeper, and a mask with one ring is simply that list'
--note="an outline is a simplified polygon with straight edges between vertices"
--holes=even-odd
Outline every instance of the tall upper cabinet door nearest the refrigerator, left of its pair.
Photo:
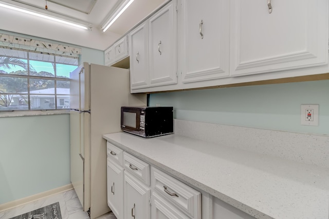
[{"label": "tall upper cabinet door nearest the refrigerator, left of its pair", "polygon": [[148,23],[145,22],[129,34],[131,89],[149,86],[148,33]]}]

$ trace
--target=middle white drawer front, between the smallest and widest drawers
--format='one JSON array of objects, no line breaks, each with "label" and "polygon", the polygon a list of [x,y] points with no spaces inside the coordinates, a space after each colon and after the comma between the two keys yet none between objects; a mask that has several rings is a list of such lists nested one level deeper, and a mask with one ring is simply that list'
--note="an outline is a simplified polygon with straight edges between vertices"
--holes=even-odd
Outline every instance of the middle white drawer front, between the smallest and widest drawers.
[{"label": "middle white drawer front, between the smallest and widest drawers", "polygon": [[132,173],[146,185],[150,186],[150,165],[144,161],[130,155],[123,153],[123,166],[124,169]]}]

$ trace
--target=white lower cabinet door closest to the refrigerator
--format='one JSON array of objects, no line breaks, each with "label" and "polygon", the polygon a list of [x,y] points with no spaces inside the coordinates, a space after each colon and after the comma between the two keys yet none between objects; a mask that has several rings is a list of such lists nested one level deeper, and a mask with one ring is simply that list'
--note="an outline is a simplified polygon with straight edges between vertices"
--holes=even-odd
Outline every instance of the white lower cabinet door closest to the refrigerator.
[{"label": "white lower cabinet door closest to the refrigerator", "polygon": [[117,218],[123,218],[123,168],[107,159],[107,205]]}]

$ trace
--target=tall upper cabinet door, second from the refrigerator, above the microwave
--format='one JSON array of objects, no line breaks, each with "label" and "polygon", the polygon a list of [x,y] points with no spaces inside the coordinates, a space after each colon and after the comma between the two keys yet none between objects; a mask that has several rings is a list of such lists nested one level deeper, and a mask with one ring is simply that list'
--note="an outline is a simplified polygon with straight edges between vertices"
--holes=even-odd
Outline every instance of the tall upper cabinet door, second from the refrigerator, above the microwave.
[{"label": "tall upper cabinet door, second from the refrigerator, above the microwave", "polygon": [[176,1],[160,9],[149,20],[150,86],[177,83]]}]

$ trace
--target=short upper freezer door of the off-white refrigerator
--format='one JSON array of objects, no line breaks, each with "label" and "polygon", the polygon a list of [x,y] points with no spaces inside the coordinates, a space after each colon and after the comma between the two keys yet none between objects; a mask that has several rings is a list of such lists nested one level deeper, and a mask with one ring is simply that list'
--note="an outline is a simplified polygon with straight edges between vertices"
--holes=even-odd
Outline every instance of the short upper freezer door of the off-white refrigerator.
[{"label": "short upper freezer door of the off-white refrigerator", "polygon": [[70,108],[90,110],[90,65],[84,63],[70,73]]}]

